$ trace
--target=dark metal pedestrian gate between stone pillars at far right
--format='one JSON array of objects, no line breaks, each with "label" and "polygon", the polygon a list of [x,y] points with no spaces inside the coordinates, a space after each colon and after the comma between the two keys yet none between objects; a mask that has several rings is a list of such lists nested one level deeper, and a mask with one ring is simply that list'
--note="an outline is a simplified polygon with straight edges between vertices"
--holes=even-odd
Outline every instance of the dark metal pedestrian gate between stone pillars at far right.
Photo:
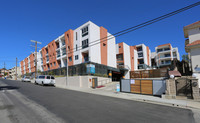
[{"label": "dark metal pedestrian gate between stone pillars at far right", "polygon": [[176,95],[186,96],[192,98],[192,83],[189,79],[181,77],[175,80],[176,82]]}]

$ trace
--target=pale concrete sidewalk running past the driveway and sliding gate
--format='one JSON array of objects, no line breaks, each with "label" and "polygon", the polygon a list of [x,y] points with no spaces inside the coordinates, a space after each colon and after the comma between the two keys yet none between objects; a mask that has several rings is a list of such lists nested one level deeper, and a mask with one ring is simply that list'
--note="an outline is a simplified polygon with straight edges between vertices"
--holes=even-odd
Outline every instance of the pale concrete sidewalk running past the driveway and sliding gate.
[{"label": "pale concrete sidewalk running past the driveway and sliding gate", "polygon": [[116,92],[115,86],[117,83],[109,83],[106,84],[105,87],[102,88],[75,88],[75,87],[66,87],[66,89],[81,91],[91,94],[121,98],[121,99],[128,99],[128,100],[135,100],[141,102],[148,102],[154,104],[161,104],[161,105],[168,105],[168,106],[176,106],[182,108],[196,108],[200,109],[200,102],[193,101],[191,99],[181,100],[181,99],[164,99],[156,96],[150,95],[140,95],[140,94],[133,94],[133,93],[124,93],[124,92]]}]

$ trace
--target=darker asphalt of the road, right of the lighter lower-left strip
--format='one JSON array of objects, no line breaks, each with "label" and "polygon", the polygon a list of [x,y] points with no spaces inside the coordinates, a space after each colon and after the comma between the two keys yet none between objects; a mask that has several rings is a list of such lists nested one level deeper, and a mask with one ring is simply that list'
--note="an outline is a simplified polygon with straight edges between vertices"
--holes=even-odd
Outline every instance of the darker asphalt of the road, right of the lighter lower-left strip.
[{"label": "darker asphalt of the road, right of the lighter lower-left strip", "polygon": [[[189,109],[82,93],[51,86],[0,80],[69,123],[193,123]],[[0,85],[0,90],[2,90]],[[1,93],[1,91],[0,91]],[[12,99],[11,99],[12,100]],[[14,98],[13,98],[14,100]]]}]

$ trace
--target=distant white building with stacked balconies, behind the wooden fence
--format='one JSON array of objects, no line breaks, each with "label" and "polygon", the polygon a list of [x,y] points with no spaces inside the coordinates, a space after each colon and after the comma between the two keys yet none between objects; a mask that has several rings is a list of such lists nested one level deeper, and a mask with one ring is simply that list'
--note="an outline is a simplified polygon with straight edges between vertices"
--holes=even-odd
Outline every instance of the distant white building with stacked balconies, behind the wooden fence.
[{"label": "distant white building with stacked balconies, behind the wooden fence", "polygon": [[[171,65],[173,59],[180,60],[178,48],[173,48],[170,43],[159,45],[155,48],[155,62],[157,67]],[[152,59],[152,58],[151,58]]]}]

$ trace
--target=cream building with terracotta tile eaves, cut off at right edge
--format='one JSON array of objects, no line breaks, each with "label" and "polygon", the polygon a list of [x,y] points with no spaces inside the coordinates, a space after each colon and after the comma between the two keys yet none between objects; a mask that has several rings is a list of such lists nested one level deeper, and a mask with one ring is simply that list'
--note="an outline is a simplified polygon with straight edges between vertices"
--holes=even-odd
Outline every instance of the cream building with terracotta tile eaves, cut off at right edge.
[{"label": "cream building with terracotta tile eaves, cut off at right edge", "polygon": [[200,88],[200,21],[185,26],[183,30],[186,38],[185,51],[188,53],[192,72],[199,79]]}]

